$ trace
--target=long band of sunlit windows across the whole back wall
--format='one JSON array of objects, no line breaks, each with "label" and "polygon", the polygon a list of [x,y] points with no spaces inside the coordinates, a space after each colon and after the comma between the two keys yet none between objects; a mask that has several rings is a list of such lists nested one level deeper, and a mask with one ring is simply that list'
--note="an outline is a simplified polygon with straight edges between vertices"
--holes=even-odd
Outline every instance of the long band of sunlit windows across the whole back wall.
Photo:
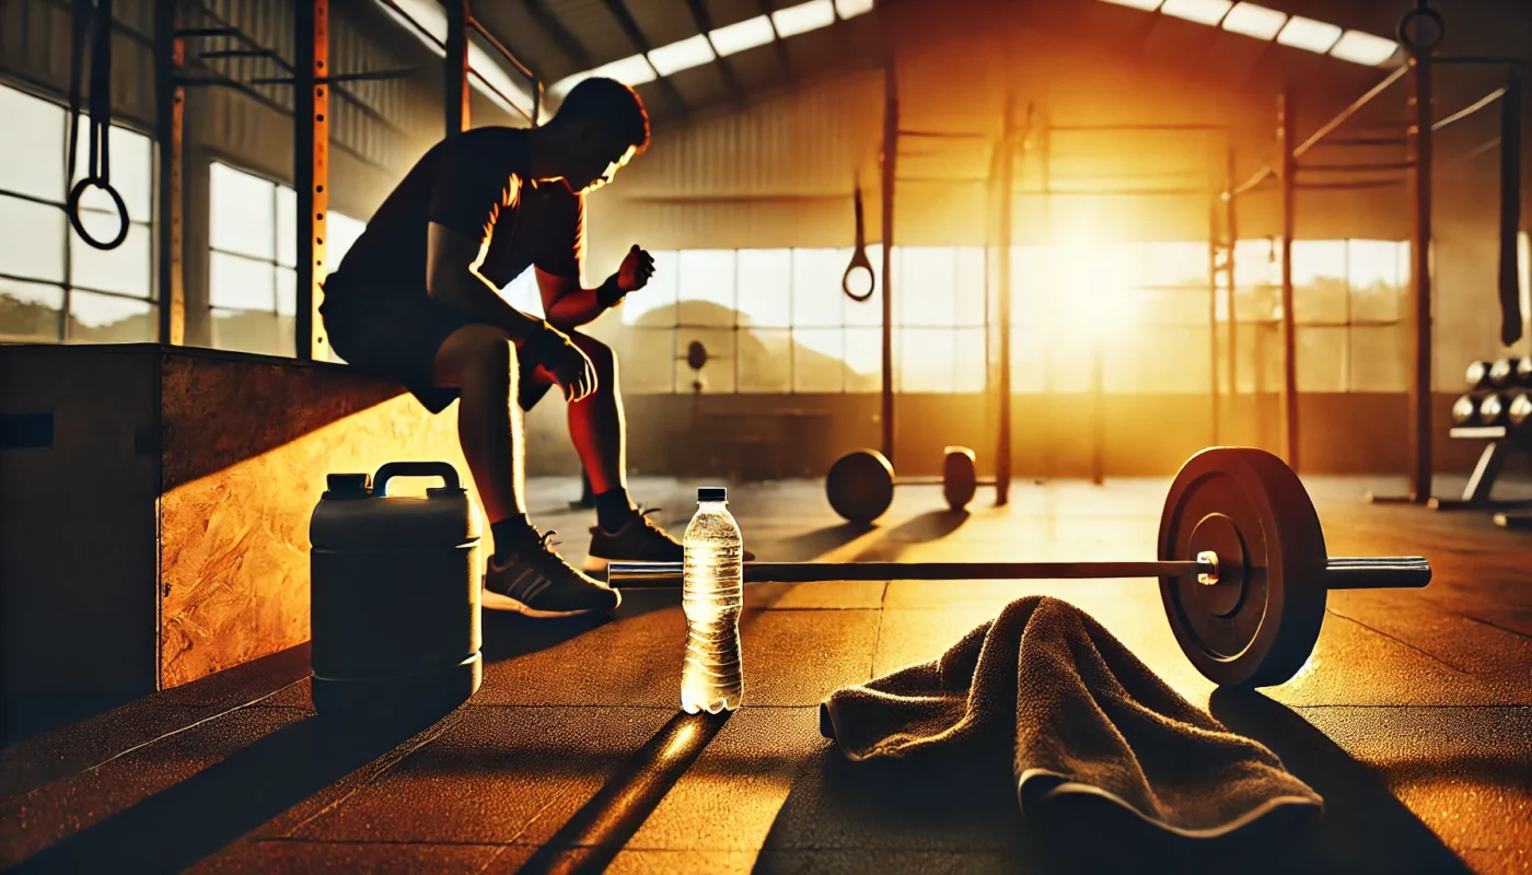
[{"label": "long band of sunlit windows across the whole back wall", "polygon": [[[869,248],[875,268],[878,247]],[[841,291],[850,250],[654,253],[657,273],[627,299],[617,351],[631,392],[689,392],[692,342],[708,349],[705,392],[876,392],[879,291]],[[1281,385],[1281,254],[1235,250],[1235,356],[1241,392]],[[899,247],[893,253],[896,392],[982,392],[997,331],[985,320],[993,251]],[[1060,242],[1011,251],[1011,386],[1114,394],[1206,394],[1227,377],[1223,277],[1209,308],[1212,253],[1192,242]],[[1400,329],[1408,245],[1302,241],[1293,247],[1298,377],[1304,392],[1403,389]],[[513,293],[515,297],[515,293]],[[1213,319],[1210,326],[1209,319]],[[1218,352],[1210,343],[1216,329]],[[1227,392],[1227,386],[1219,391]]]}]

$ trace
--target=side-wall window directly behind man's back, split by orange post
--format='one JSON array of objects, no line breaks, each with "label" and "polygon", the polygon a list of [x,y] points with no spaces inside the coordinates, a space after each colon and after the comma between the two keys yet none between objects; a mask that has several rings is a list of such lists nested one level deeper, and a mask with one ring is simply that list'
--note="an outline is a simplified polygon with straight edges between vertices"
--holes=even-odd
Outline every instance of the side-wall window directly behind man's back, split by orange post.
[{"label": "side-wall window directly behind man's back, split by orange post", "polygon": [[[297,193],[218,161],[208,170],[208,303],[218,349],[293,356],[297,339]],[[325,268],[366,222],[325,213]]]}]

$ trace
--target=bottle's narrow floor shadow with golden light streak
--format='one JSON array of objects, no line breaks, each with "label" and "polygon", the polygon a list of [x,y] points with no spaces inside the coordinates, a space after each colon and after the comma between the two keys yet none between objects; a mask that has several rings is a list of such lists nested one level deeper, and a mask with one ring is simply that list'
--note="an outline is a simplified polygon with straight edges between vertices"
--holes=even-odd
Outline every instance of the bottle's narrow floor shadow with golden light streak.
[{"label": "bottle's narrow floor shadow with golden light streak", "polygon": [[521,872],[605,872],[665,794],[697,762],[729,714],[732,711],[677,713],[538,849]]}]

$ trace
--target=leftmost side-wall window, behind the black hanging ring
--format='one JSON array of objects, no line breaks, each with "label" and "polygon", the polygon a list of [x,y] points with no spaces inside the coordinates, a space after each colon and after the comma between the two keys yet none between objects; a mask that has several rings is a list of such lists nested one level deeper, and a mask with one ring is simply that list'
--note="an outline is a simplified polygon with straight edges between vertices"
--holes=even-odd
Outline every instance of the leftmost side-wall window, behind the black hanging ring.
[{"label": "leftmost side-wall window, behind the black hanging ring", "polygon": [[[155,340],[153,149],[135,130],[110,129],[112,185],[127,205],[127,238],[97,250],[64,213],[67,113],[0,86],[0,342],[132,343]],[[81,135],[86,121],[81,120]],[[75,181],[84,176],[81,136]],[[70,181],[72,184],[74,181]],[[119,228],[104,192],[81,198],[81,221],[97,239]]]}]

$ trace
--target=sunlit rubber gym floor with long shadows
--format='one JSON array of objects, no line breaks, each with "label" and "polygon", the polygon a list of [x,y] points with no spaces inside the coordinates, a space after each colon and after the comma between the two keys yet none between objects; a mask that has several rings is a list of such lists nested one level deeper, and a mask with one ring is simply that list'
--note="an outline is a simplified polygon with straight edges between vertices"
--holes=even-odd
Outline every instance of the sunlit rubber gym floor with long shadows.
[{"label": "sunlit rubber gym floor with long shadows", "polygon": [[[971,513],[901,489],[869,532],[818,481],[731,489],[761,559],[1134,559],[1167,481],[1020,481]],[[694,483],[639,480],[676,529]],[[486,618],[473,700],[415,734],[337,734],[286,651],[3,751],[3,864],[126,872],[990,872],[1068,869],[1031,850],[1010,775],[846,762],[817,705],[939,654],[1008,601],[1075,602],[1161,677],[1275,749],[1327,801],[1307,869],[1532,872],[1532,533],[1483,512],[1367,506],[1386,481],[1311,478],[1331,555],[1425,553],[1426,590],[1342,592],[1313,659],[1259,694],[1215,691],[1180,653],[1151,581],[760,585],[741,619],[746,703],[677,710],[676,593],[604,622]],[[1462,483],[1439,478],[1449,495]],[[1529,484],[1520,484],[1532,493]],[[535,518],[582,558],[571,480]],[[555,509],[539,512],[541,509]],[[1094,837],[1109,846],[1111,835]],[[1285,847],[1255,849],[1284,869]],[[1219,854],[1180,870],[1235,869]],[[1163,870],[1137,855],[1123,870]]]}]

